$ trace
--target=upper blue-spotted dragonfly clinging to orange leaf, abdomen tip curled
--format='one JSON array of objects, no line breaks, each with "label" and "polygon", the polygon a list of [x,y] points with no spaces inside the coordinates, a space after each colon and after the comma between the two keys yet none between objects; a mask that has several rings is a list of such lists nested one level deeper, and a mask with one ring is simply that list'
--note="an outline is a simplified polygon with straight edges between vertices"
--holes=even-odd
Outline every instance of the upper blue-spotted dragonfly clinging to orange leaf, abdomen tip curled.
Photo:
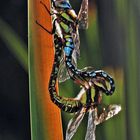
[{"label": "upper blue-spotted dragonfly clinging to orange leaf, abdomen tip curled", "polygon": [[[90,72],[81,71],[77,69],[76,66],[73,65],[73,62],[75,62],[76,64],[76,59],[74,59],[73,57],[74,51],[77,52],[78,50],[77,48],[79,48],[79,45],[75,45],[78,42],[77,40],[79,40],[78,28],[80,28],[80,25],[82,26],[82,28],[87,27],[88,0],[82,1],[78,16],[72,9],[68,0],[56,0],[56,1],[53,0],[52,1],[53,8],[51,8],[52,10],[51,12],[48,10],[46,5],[42,1],[40,1],[40,3],[45,7],[46,11],[52,16],[53,29],[52,31],[48,31],[37,21],[36,23],[52,35],[59,34],[61,41],[63,42],[63,50],[64,50],[63,51],[64,56],[61,57],[60,64],[62,65],[63,62],[65,62],[68,73],[71,76],[71,78],[74,81],[76,81],[76,83],[82,86],[86,85],[86,88],[90,87],[89,81],[91,79],[103,77],[111,85],[110,90],[106,90],[105,93],[106,95],[112,95],[115,90],[115,85],[114,80],[110,75],[108,75],[103,70]],[[59,73],[62,72],[62,68],[63,67],[59,68]]]}]

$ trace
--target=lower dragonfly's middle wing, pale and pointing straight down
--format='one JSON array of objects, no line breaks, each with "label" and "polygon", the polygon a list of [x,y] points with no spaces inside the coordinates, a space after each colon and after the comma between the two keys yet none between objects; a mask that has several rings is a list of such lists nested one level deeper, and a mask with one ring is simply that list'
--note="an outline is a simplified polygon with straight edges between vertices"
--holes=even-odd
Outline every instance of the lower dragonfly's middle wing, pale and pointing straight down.
[{"label": "lower dragonfly's middle wing, pale and pointing straight down", "polygon": [[97,110],[90,109],[85,140],[95,140]]}]

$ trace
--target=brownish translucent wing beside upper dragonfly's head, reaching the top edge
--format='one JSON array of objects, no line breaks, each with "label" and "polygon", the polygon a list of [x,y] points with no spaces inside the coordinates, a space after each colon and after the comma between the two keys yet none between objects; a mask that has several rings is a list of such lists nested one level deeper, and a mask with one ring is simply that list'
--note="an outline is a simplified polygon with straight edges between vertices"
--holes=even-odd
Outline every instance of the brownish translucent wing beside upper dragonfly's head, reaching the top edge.
[{"label": "brownish translucent wing beside upper dragonfly's head, reaching the top edge", "polygon": [[81,8],[78,13],[79,28],[88,28],[88,0],[82,0]]}]

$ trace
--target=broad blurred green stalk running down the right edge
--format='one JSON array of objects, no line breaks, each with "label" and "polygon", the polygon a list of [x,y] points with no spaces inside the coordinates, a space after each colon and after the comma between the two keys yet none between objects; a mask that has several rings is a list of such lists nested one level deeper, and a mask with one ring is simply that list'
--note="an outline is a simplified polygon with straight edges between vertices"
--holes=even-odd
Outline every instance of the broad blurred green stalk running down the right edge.
[{"label": "broad blurred green stalk running down the right edge", "polygon": [[[136,0],[137,1],[137,0]],[[117,1],[120,23],[125,31],[124,70],[127,139],[139,139],[139,2]],[[136,6],[137,5],[137,6]]]}]

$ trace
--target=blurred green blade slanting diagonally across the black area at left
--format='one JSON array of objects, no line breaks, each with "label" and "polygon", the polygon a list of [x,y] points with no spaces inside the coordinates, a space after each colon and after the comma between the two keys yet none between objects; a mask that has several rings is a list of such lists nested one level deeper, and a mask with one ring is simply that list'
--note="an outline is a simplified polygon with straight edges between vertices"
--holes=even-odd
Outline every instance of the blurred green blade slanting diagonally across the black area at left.
[{"label": "blurred green blade slanting diagonally across the black area at left", "polygon": [[16,32],[2,19],[0,19],[0,37],[17,60],[28,71],[28,58],[25,43]]}]

